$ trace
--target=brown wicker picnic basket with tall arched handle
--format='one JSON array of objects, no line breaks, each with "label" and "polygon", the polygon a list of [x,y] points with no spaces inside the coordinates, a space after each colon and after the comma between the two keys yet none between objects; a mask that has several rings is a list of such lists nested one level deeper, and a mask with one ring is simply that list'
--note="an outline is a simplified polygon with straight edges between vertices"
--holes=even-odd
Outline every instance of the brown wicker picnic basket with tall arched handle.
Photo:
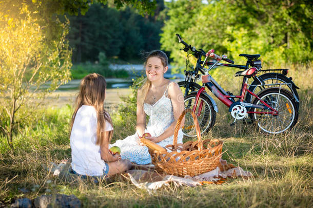
[{"label": "brown wicker picnic basket with tall arched handle", "polygon": [[[198,141],[178,144],[178,131],[186,112],[192,114]],[[198,119],[190,109],[185,109],[177,121],[173,144],[166,146],[172,152],[160,152],[148,147],[155,170],[159,173],[184,177],[197,176],[215,169],[222,157],[223,142],[218,139],[202,141],[200,133]]]}]

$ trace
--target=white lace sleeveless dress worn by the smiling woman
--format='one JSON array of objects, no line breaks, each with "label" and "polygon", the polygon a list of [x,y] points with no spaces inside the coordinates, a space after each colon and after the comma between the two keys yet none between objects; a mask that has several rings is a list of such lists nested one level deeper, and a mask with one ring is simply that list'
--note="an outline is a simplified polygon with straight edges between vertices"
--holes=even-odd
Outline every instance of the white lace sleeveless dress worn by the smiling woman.
[{"label": "white lace sleeveless dress worn by the smiling woman", "polygon": [[[166,97],[167,89],[165,90],[162,98],[155,102],[153,105],[144,103],[144,111],[149,116],[149,122],[145,132],[151,134],[152,137],[158,137],[174,122],[173,106],[169,98]],[[151,158],[146,146],[138,144],[138,135],[135,133],[128,136],[123,140],[118,140],[111,146],[119,146],[121,148],[122,159],[128,159],[136,164],[151,163]],[[183,143],[183,132],[179,130],[178,143]],[[165,147],[168,144],[173,144],[173,136],[164,139],[158,143],[160,146]]]}]

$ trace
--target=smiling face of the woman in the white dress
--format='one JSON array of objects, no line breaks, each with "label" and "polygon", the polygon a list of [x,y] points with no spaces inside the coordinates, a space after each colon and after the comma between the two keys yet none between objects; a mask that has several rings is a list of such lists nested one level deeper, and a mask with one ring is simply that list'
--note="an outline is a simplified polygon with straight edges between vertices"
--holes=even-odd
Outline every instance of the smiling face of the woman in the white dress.
[{"label": "smiling face of the woman in the white dress", "polygon": [[167,71],[167,66],[164,67],[161,59],[158,57],[150,57],[146,64],[146,74],[151,82],[163,78],[163,74]]}]

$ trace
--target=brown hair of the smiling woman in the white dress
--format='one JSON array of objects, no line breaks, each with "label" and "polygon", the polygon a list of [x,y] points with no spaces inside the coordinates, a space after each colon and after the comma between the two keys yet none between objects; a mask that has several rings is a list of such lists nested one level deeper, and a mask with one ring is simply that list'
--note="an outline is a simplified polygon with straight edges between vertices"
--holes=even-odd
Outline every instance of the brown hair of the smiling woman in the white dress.
[{"label": "brown hair of the smiling woman in the white dress", "polygon": [[[144,63],[145,68],[146,68],[148,59],[152,58],[152,57],[159,58],[162,62],[163,67],[167,67],[168,58],[167,58],[166,53],[163,52],[162,50],[152,50],[152,51],[145,53],[145,54],[147,54],[146,58],[145,58],[145,63]],[[146,78],[144,84],[138,90],[138,98],[139,98],[138,102],[140,103],[140,105],[144,104],[150,86],[151,86],[151,82],[150,82],[150,80],[148,80]]]}]

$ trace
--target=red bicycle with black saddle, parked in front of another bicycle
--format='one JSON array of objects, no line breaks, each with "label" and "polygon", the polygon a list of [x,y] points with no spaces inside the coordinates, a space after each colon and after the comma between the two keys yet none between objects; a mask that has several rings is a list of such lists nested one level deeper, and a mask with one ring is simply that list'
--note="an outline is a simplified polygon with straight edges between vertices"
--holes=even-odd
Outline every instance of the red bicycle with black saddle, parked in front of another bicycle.
[{"label": "red bicycle with black saddle, parked in front of another bicycle", "polygon": [[[205,64],[209,57],[217,61],[206,69]],[[201,133],[205,133],[214,125],[216,112],[218,111],[217,104],[205,92],[205,87],[222,103],[229,107],[228,111],[234,118],[234,122],[231,125],[236,123],[237,120],[250,116],[252,122],[257,124],[265,133],[279,134],[292,128],[297,123],[299,110],[295,97],[290,91],[279,85],[279,87],[265,88],[258,92],[258,94],[255,94],[247,88],[248,79],[259,70],[256,67],[251,67],[240,72],[239,75],[243,76],[240,95],[236,96],[228,91],[226,92],[208,73],[221,60],[233,63],[233,61],[227,59],[226,55],[219,56],[215,54],[214,50],[210,50],[206,53],[206,58],[201,67],[205,72],[205,75],[202,75],[203,85],[198,91],[193,91],[185,96],[185,108],[192,108],[195,115],[197,115]],[[253,98],[251,98],[251,102],[244,101],[247,94]],[[235,101],[235,99],[237,101]],[[185,117],[183,132],[186,136],[192,137],[197,135],[191,116]]]}]

